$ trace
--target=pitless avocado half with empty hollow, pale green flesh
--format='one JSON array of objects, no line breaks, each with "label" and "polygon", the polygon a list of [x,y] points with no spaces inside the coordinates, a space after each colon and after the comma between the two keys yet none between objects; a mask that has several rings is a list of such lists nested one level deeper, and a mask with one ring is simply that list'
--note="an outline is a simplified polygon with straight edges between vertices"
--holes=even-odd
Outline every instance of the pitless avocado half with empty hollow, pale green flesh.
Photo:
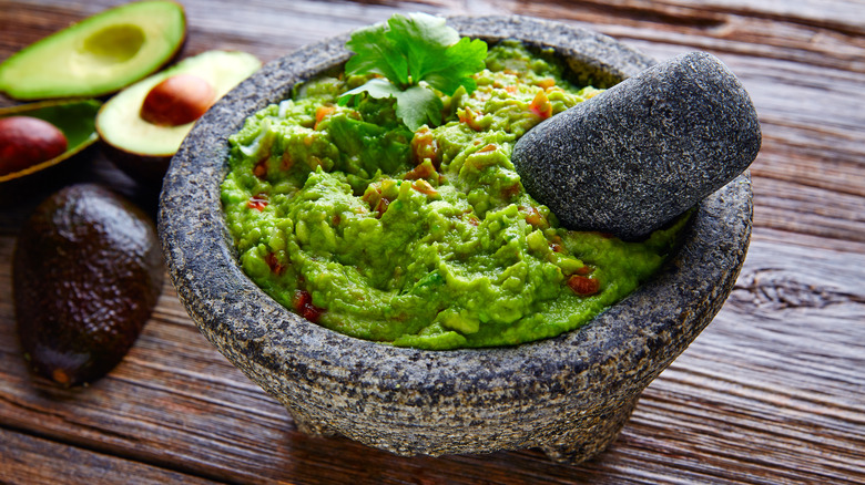
[{"label": "pitless avocado half with empty hollow, pale green flesh", "polygon": [[105,10],[0,64],[0,91],[18,100],[92,97],[157,71],[183,45],[186,16],[173,1]]}]

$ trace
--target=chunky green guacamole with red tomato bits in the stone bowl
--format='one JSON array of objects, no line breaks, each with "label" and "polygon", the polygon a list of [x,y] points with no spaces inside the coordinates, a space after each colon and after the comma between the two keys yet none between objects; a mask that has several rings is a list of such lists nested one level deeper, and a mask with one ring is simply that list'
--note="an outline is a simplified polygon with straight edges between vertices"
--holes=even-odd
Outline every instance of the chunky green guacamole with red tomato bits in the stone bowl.
[{"label": "chunky green guacamole with red tomato bits in the stone bowl", "polygon": [[509,345],[576,329],[662,265],[682,221],[642,242],[559,227],[523,189],[513,143],[600,91],[550,53],[490,49],[478,89],[413,133],[391,100],[323,76],[251,116],[222,185],[243,270],[305,318],[423,349]]}]

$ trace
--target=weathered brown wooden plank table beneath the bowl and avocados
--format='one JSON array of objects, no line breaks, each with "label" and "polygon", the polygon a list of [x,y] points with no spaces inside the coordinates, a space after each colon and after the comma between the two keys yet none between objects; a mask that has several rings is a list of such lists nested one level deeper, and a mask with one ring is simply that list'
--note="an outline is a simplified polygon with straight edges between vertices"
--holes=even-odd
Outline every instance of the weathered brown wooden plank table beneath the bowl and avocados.
[{"label": "weathered brown wooden plank table beneath the bowl and avocados", "polygon": [[[0,60],[118,0],[0,0]],[[586,25],[659,60],[704,50],[760,113],[754,233],[715,321],[644,392],[621,437],[579,466],[530,450],[398,457],[299,433],[199,333],[166,283],[105,379],[31,380],[10,297],[16,235],[51,190],[155,189],[98,152],[39,184],[0,185],[2,483],[865,483],[865,2],[862,0],[183,0],[183,55],[264,61],[395,11],[520,13]],[[13,104],[0,99],[2,105]]]}]

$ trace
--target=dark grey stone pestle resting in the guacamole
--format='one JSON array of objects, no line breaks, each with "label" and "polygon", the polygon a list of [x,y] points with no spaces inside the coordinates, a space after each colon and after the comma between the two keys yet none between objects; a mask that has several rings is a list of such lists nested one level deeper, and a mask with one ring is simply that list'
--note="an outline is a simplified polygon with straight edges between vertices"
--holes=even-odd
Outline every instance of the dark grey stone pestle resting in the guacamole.
[{"label": "dark grey stone pestle resting in the guacamole", "polygon": [[564,227],[639,240],[739,176],[760,144],[736,76],[691,52],[537,125],[512,161]]}]

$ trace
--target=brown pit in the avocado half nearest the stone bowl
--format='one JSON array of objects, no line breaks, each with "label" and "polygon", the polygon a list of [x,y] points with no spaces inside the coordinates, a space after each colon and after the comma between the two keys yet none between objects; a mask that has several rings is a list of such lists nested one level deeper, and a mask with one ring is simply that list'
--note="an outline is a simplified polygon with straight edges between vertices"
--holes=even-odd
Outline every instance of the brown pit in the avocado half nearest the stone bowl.
[{"label": "brown pit in the avocado half nearest the stone bowl", "polygon": [[216,96],[207,81],[177,74],[153,86],[141,105],[141,117],[154,125],[179,126],[200,118]]}]

